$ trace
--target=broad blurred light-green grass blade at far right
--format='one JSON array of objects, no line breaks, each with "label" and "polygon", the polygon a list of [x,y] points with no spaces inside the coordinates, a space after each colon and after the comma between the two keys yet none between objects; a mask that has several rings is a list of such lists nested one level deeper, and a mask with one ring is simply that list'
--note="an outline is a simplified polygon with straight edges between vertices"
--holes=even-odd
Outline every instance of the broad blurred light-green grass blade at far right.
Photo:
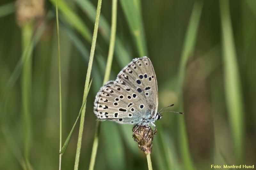
[{"label": "broad blurred light-green grass blade at far right", "polygon": [[229,11],[229,2],[220,0],[220,18],[222,29],[222,49],[225,78],[225,96],[228,118],[234,141],[235,160],[242,163],[244,150],[244,116],[236,50]]}]

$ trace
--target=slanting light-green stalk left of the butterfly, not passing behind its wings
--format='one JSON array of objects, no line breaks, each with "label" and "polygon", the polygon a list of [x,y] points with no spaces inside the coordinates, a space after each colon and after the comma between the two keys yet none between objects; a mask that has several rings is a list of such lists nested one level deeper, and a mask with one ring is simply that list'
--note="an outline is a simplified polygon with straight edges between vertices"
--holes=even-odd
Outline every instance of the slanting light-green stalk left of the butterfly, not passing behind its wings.
[{"label": "slanting light-green stalk left of the butterfly, not passing behind its wings", "polygon": [[102,2],[101,0],[98,0],[96,19],[95,19],[93,36],[92,36],[92,48],[91,48],[91,53],[90,53],[90,58],[89,58],[89,63],[88,63],[88,69],[87,69],[87,74],[86,74],[86,80],[85,80],[85,85],[84,85],[83,103],[85,102],[85,104],[84,104],[84,108],[83,108],[82,113],[81,113],[81,120],[80,120],[80,127],[79,127],[79,134],[78,134],[78,141],[77,141],[77,148],[76,148],[76,159],[75,159],[75,167],[74,167],[75,170],[78,169],[81,146],[82,146],[82,136],[83,136],[83,129],[84,129],[84,116],[85,116],[86,97],[87,97],[86,94],[88,94],[90,76],[91,76],[91,71],[92,71],[92,62],[93,62],[94,51],[95,51],[96,40],[97,40],[97,34],[98,34],[98,28],[99,28],[99,22],[100,22],[101,2]]}]

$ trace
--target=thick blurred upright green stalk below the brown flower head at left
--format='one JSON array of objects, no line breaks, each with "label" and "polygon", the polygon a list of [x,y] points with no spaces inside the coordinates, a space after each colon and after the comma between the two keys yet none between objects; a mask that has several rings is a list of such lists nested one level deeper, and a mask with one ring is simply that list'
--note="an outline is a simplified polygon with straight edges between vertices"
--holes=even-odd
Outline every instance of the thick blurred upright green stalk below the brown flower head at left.
[{"label": "thick blurred upright green stalk below the brown flower head at left", "polygon": [[[22,28],[22,44],[23,50],[32,43],[33,24],[28,23]],[[31,54],[30,54],[31,55]],[[32,103],[32,56],[28,57],[23,63],[21,75],[21,101],[22,101],[22,131],[24,139],[24,159],[26,169],[31,169],[30,166],[30,146],[31,146],[31,103]]]}]

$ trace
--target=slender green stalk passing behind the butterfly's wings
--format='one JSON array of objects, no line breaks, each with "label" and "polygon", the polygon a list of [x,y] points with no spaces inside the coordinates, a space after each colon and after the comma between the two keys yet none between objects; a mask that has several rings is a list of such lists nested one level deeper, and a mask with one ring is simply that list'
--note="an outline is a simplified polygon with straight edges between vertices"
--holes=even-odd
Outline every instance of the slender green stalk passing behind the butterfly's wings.
[{"label": "slender green stalk passing behind the butterfly's wings", "polygon": [[[110,43],[109,43],[108,59],[107,59],[103,84],[109,80],[111,65],[112,65],[112,61],[113,61],[115,40],[116,40],[116,17],[117,17],[117,0],[113,0],[112,1],[112,18],[111,18],[112,20],[111,20]],[[98,145],[99,145],[99,134],[100,134],[100,121],[97,121],[93,145],[92,145],[92,155],[91,155],[89,170],[94,169]]]}]

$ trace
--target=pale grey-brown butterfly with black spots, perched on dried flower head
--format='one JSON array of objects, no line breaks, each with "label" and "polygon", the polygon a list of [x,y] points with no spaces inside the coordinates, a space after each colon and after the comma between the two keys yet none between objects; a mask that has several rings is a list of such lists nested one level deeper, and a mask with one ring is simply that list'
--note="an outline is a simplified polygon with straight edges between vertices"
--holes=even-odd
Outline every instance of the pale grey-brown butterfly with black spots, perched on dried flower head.
[{"label": "pale grey-brown butterfly with black spots, perched on dried flower head", "polygon": [[133,59],[115,81],[108,81],[100,88],[94,101],[94,113],[101,121],[154,125],[162,117],[157,113],[157,106],[155,71],[149,58],[142,57]]}]

